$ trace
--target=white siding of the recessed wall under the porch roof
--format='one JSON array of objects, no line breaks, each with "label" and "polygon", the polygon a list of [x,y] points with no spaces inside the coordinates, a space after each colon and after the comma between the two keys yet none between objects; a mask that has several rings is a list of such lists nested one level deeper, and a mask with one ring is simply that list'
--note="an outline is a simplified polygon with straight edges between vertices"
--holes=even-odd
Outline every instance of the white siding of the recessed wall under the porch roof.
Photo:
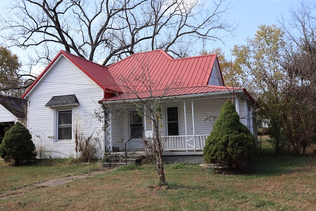
[{"label": "white siding of the recessed wall under the porch roof", "polygon": [[[210,134],[214,124],[215,119],[219,116],[220,110],[224,103],[227,101],[228,97],[224,96],[223,98],[211,98],[211,97],[201,97],[201,98],[189,98],[186,99],[186,119],[187,119],[187,135],[205,135]],[[193,118],[192,118],[192,100],[193,109],[194,109],[194,128],[193,131]],[[185,115],[184,115],[184,103],[183,101],[174,102],[169,100],[167,104],[162,104],[161,108],[163,109],[163,117],[161,124],[159,124],[160,135],[166,135],[166,107],[176,107],[178,106],[180,112],[180,130],[179,135],[185,135]],[[210,120],[206,120],[207,117]],[[147,130],[151,130],[150,121],[146,121]],[[124,141],[128,140],[129,134],[128,126],[128,116],[127,112],[121,112],[120,115],[113,115],[112,118],[112,140],[113,144],[119,146],[119,148],[124,149],[124,143],[117,143],[121,138]]]}]

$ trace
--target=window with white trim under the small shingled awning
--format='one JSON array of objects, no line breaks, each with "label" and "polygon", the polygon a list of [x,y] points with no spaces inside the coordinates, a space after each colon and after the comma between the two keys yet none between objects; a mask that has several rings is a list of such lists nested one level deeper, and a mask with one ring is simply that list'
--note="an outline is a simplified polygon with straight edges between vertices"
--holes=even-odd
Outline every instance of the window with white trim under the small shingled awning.
[{"label": "window with white trim under the small shingled awning", "polygon": [[73,133],[73,111],[57,110],[57,140],[71,140]]}]

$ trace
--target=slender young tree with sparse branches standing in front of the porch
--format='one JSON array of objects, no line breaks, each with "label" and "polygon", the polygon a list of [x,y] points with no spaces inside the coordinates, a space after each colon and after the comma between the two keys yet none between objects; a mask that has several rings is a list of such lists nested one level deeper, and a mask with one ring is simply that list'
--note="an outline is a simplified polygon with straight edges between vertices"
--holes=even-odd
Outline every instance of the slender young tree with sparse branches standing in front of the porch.
[{"label": "slender young tree with sparse branches standing in front of the porch", "polygon": [[[123,103],[111,103],[105,105],[109,107],[111,112],[121,112],[124,110],[137,112],[139,116],[145,117],[145,124],[150,123],[153,128],[153,136],[150,140],[144,141],[144,144],[152,146],[145,146],[154,149],[156,157],[156,167],[161,184],[166,184],[164,166],[162,161],[163,140],[160,137],[159,125],[162,120],[161,104],[167,103],[170,97],[177,93],[179,88],[183,86],[180,79],[176,79],[171,83],[166,76],[155,77],[153,71],[150,69],[150,62],[147,55],[136,57],[134,64],[134,71],[127,74],[125,77],[121,76],[115,80],[123,89],[122,93],[118,93],[116,100]],[[114,101],[115,102],[115,101]]]}]

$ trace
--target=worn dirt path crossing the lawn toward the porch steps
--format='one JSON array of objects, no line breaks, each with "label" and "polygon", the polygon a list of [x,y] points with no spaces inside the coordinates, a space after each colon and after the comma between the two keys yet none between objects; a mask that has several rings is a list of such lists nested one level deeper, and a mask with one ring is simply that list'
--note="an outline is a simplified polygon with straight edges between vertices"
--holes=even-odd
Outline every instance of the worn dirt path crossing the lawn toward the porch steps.
[{"label": "worn dirt path crossing the lawn toward the porch steps", "polygon": [[2,195],[0,195],[0,200],[4,200],[4,199],[12,198],[12,197],[15,197],[15,196],[23,195],[27,191],[32,190],[32,189],[36,189],[36,188],[53,187],[53,186],[62,185],[62,184],[65,184],[65,183],[68,183],[68,182],[71,182],[71,181],[85,179],[87,177],[91,177],[91,176],[94,176],[94,175],[97,175],[97,174],[101,174],[101,173],[107,172],[109,170],[111,170],[111,169],[104,169],[104,170],[99,170],[99,171],[93,171],[93,172],[83,173],[83,174],[79,174],[79,175],[69,175],[69,176],[65,176],[65,177],[60,177],[60,178],[56,178],[56,179],[50,179],[50,180],[47,180],[47,181],[35,183],[33,185],[29,185],[29,186],[26,186],[24,188],[21,188],[21,189],[18,189],[18,190],[13,190],[13,191],[10,191],[8,193],[2,194]]}]

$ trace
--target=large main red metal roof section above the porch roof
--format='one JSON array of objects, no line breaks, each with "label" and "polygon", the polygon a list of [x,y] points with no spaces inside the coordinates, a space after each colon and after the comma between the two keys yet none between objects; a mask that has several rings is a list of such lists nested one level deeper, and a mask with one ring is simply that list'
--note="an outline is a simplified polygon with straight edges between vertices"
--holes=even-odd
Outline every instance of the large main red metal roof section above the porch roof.
[{"label": "large main red metal roof section above the porch roof", "polygon": [[[123,92],[207,85],[216,55],[174,59],[163,50],[133,54],[108,66]],[[144,84],[145,83],[145,84]],[[147,84],[146,84],[147,83]]]}]

